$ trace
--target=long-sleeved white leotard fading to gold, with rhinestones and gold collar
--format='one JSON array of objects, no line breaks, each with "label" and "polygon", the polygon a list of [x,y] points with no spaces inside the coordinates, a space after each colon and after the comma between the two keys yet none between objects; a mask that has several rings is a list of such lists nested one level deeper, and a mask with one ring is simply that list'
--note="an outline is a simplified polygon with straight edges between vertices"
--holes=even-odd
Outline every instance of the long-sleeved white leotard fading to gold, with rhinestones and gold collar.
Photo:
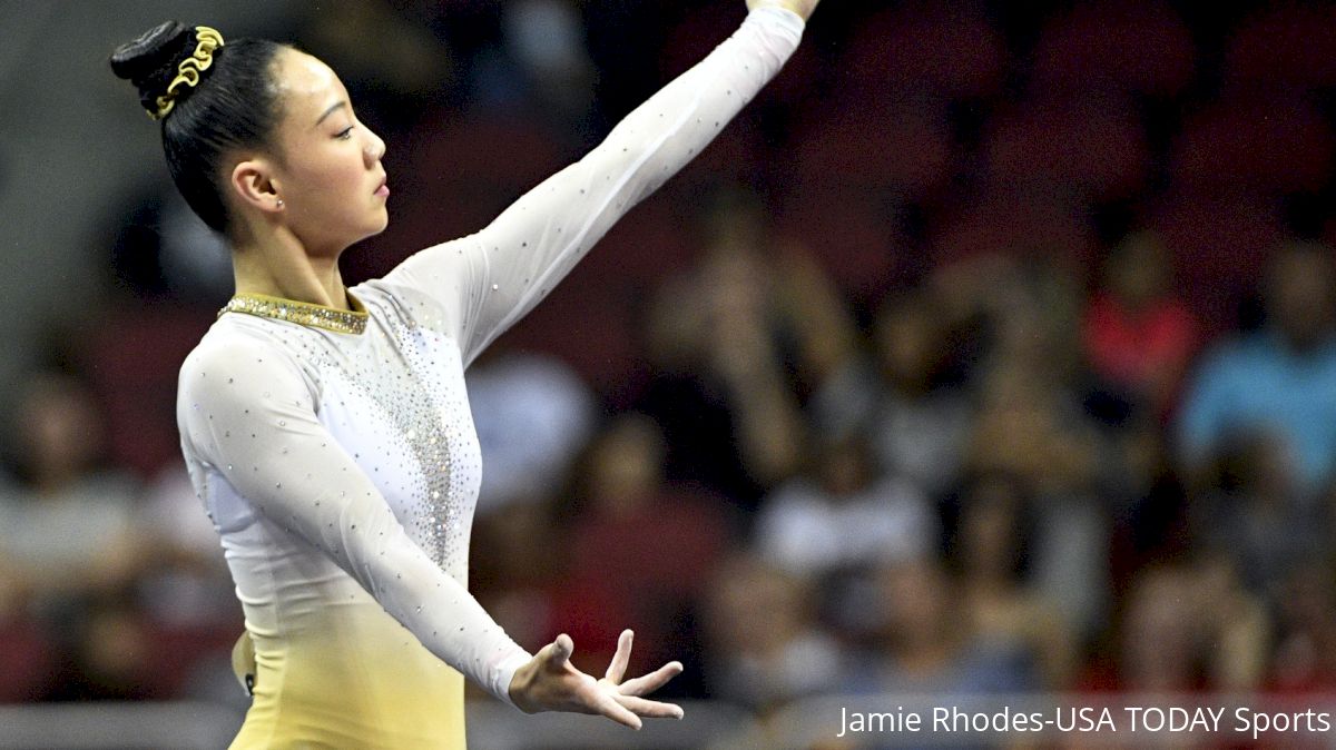
[{"label": "long-sleeved white leotard fading to gold, with rhinestones and gold collar", "polygon": [[182,367],[178,423],[255,650],[232,747],[458,749],[465,677],[509,702],[530,655],[466,589],[481,467],[464,368],[709,143],[802,29],[754,11],[489,227],[351,288],[354,312],[242,296],[219,315]]}]

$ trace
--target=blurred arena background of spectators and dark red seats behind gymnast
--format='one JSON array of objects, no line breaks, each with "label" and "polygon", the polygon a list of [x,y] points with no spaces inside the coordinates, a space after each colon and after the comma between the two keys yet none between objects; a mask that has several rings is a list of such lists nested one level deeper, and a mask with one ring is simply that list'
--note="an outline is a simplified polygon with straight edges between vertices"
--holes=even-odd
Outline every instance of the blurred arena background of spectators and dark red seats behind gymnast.
[{"label": "blurred arena background of spectators and dark red seats behind gymnast", "polygon": [[[176,17],[339,72],[394,185],[353,283],[482,227],[743,16],[0,1],[0,746],[220,746],[246,706],[174,420],[228,258],[116,44]],[[826,3],[469,372],[472,589],[588,670],[633,627],[695,721],[480,701],[473,746],[851,747],[838,695],[1329,706],[1333,92],[1329,3]]]}]

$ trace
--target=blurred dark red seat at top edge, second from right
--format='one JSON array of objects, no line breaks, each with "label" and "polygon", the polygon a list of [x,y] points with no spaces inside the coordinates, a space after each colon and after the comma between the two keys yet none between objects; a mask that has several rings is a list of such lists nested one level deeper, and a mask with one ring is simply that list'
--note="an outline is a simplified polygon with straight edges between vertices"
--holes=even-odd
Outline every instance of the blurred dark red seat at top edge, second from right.
[{"label": "blurred dark red seat at top edge, second from right", "polygon": [[1164,3],[1077,3],[1042,32],[1034,84],[1065,92],[1118,88],[1172,96],[1193,77],[1192,35]]}]

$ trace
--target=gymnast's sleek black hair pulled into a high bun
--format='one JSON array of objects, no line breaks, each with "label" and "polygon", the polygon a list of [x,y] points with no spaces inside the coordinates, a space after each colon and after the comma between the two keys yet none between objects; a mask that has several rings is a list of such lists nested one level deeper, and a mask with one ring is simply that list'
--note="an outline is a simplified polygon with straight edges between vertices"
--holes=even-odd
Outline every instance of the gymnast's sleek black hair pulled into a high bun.
[{"label": "gymnast's sleek black hair pulled into a high bun", "polygon": [[[158,111],[158,97],[178,75],[178,65],[196,45],[195,28],[166,21],[111,55],[111,69],[139,88],[139,101]],[[195,87],[179,87],[172,109],[162,119],[163,152],[176,190],[206,224],[227,230],[223,155],[263,148],[278,123],[278,96],[271,65],[282,44],[261,39],[227,41],[214,51],[212,65]]]}]

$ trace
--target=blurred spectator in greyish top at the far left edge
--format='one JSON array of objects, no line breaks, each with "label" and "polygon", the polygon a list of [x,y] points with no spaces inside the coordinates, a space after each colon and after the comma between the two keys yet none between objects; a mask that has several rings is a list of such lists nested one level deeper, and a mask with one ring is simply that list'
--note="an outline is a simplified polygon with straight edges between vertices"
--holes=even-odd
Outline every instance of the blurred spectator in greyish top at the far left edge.
[{"label": "blurred spectator in greyish top at the far left edge", "polygon": [[132,591],[146,563],[135,486],[100,466],[98,406],[79,380],[36,372],[13,427],[17,482],[0,491],[0,593],[9,601],[0,606],[49,641],[55,666],[29,697],[150,695],[147,662],[134,658],[144,653]]}]

